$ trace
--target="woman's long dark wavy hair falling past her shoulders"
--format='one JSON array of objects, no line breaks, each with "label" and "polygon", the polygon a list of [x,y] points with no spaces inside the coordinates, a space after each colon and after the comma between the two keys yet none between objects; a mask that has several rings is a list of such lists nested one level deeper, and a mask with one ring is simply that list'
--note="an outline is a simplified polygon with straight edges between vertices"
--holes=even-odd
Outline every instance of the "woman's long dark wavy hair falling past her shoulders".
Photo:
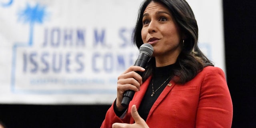
[{"label": "woman's long dark wavy hair falling past her shoulders", "polygon": [[[197,22],[192,9],[186,0],[145,0],[142,2],[132,35],[134,45],[140,48],[143,44],[141,37],[142,15],[151,1],[158,2],[168,8],[176,25],[180,28],[180,31],[186,35],[182,51],[177,58],[175,63],[176,66],[172,73],[175,76],[174,81],[179,84],[184,84],[189,80],[192,80],[204,67],[214,66],[198,47]],[[152,75],[154,66],[156,66],[155,58],[151,57],[146,66],[146,71],[142,74],[143,81]]]}]

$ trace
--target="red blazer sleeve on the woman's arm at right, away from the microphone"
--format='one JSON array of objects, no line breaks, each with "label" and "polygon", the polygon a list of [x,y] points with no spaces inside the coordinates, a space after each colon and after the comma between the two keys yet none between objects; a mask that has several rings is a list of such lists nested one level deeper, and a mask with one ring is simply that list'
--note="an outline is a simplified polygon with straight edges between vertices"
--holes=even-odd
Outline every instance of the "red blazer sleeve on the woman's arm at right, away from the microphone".
[{"label": "red blazer sleeve on the woman's arm at right, away from the microphone", "polygon": [[230,128],[233,106],[225,74],[220,68],[206,68],[200,88],[196,128]]}]

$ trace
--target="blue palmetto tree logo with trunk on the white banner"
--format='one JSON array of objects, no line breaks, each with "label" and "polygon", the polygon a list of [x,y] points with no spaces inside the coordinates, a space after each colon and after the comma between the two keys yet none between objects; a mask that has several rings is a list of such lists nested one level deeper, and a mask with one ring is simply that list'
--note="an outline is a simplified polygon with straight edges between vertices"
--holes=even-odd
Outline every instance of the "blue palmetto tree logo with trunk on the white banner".
[{"label": "blue palmetto tree logo with trunk on the white banner", "polygon": [[30,34],[29,34],[29,46],[33,44],[33,33],[34,33],[34,24],[42,24],[44,17],[46,16],[45,7],[39,6],[36,4],[34,7],[29,4],[26,5],[26,8],[18,13],[18,20],[23,21],[24,23],[29,23],[30,25]]}]

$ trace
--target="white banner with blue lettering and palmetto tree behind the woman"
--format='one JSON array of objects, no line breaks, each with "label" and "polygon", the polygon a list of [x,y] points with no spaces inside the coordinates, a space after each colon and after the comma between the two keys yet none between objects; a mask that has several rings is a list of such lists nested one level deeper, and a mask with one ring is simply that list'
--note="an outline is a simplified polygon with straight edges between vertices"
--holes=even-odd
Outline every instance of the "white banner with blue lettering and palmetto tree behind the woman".
[{"label": "white banner with blue lettering and palmetto tree behind the woman", "polygon": [[[142,0],[0,0],[0,103],[111,104],[134,64]],[[224,68],[221,0],[188,0],[203,52]]]}]

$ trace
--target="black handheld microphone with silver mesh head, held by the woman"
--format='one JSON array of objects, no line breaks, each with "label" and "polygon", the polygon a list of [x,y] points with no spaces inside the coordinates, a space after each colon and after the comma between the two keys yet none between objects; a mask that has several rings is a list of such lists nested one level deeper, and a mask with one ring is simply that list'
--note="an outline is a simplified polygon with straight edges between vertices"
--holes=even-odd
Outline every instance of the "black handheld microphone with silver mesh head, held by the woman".
[{"label": "black handheld microphone with silver mesh head, held by the woman", "polygon": [[[148,63],[149,58],[153,54],[153,46],[151,44],[142,44],[140,46],[140,54],[138,56],[138,59],[136,60],[134,66],[140,66],[142,68],[146,68],[146,64]],[[142,75],[142,72],[137,72],[140,76]],[[134,96],[133,90],[127,90],[124,92],[124,96],[121,102],[121,105],[124,107],[127,107],[132,100]]]}]

